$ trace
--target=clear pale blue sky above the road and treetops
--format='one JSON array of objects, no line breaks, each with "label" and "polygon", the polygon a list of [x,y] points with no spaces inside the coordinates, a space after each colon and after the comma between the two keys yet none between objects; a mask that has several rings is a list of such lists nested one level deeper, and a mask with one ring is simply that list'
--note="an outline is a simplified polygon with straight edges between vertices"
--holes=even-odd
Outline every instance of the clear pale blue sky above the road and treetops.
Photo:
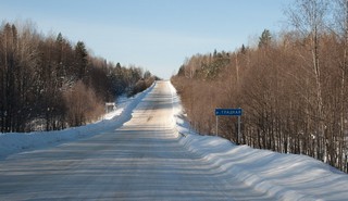
[{"label": "clear pale blue sky above the road and treetops", "polygon": [[0,0],[0,21],[82,40],[97,56],[170,78],[196,53],[234,51],[278,32],[291,0]]}]

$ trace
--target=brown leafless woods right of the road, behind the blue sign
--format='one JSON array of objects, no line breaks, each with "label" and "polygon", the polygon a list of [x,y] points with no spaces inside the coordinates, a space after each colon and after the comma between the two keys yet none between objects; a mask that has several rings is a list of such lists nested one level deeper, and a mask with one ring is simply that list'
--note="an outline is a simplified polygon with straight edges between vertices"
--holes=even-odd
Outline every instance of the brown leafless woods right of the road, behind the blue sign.
[{"label": "brown leafless woods right of the road, behind the blue sign", "polygon": [[236,118],[220,117],[219,135],[348,172],[348,1],[297,0],[286,13],[293,29],[192,55],[172,83],[199,133],[215,134],[215,108],[241,108],[240,141]]}]

